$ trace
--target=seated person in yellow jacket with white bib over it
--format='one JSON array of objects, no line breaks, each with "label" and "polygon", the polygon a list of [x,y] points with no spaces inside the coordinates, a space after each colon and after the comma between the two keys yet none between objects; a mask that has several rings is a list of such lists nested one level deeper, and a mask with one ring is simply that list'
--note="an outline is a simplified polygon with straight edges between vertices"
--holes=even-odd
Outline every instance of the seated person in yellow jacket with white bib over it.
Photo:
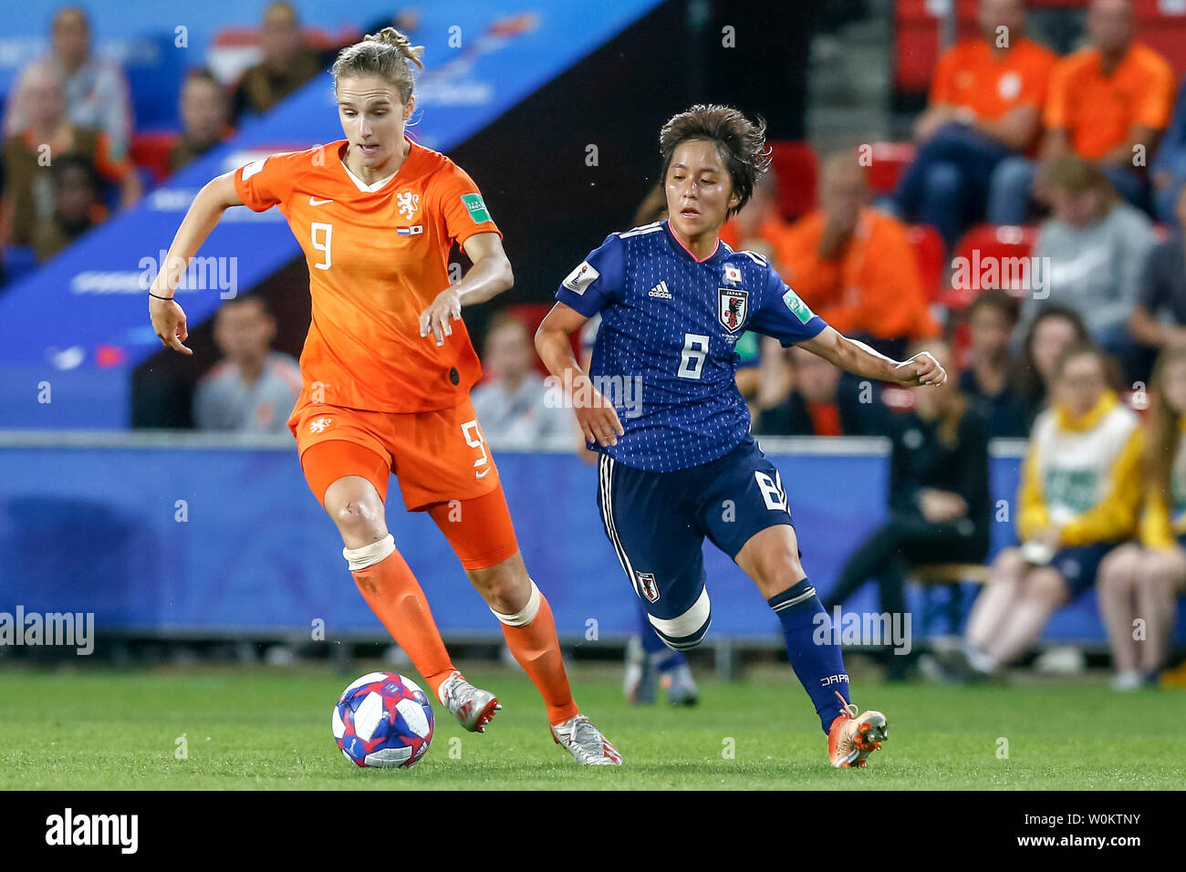
[{"label": "seated person in yellow jacket with white bib over it", "polygon": [[1143,439],[1109,373],[1091,345],[1059,358],[1054,406],[1034,422],[1022,469],[1021,545],[993,562],[964,645],[950,653],[964,677],[990,675],[1037,644],[1054,611],[1090,588],[1104,556],[1136,532]]}]

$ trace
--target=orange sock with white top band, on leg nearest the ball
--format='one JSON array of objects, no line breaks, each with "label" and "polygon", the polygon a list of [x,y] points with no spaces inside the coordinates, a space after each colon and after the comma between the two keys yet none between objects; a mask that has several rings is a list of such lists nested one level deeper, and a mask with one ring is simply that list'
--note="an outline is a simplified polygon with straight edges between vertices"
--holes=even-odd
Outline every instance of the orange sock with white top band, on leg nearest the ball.
[{"label": "orange sock with white top band, on leg nearest the ball", "polygon": [[388,534],[362,548],[343,548],[342,555],[366,605],[412,658],[435,696],[436,688],[452,674],[453,663],[420,583],[395,549],[395,537]]}]

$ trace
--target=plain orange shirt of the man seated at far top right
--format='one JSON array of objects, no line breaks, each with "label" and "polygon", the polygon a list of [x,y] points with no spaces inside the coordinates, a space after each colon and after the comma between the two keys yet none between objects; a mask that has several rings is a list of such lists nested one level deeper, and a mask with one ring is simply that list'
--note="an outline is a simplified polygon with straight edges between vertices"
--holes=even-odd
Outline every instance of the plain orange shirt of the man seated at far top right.
[{"label": "plain orange shirt of the man seated at far top right", "polygon": [[1133,125],[1160,131],[1169,123],[1174,74],[1153,49],[1134,44],[1104,76],[1097,49],[1082,49],[1054,65],[1042,121],[1066,131],[1071,149],[1093,160],[1128,141]]}]

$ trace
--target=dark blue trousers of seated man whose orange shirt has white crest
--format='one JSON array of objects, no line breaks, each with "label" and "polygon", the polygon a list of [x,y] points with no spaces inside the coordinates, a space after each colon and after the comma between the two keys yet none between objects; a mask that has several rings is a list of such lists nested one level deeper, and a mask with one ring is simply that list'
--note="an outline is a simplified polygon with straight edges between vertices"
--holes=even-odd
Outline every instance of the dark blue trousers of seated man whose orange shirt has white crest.
[{"label": "dark blue trousers of seated man whose orange shirt has white crest", "polygon": [[983,218],[993,172],[1012,153],[964,125],[944,125],[919,146],[898,182],[898,215],[936,228],[951,252]]}]

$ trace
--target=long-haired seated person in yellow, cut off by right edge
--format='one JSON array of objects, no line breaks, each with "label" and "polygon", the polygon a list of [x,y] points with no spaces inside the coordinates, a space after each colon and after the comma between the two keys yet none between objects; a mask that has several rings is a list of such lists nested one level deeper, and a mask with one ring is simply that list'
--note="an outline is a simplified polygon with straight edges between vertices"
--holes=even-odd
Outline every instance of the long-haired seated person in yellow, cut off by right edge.
[{"label": "long-haired seated person in yellow, cut off by right edge", "polygon": [[1099,610],[1117,690],[1156,683],[1169,650],[1177,596],[1186,591],[1186,346],[1161,354],[1149,394],[1140,536],[1099,567]]}]

